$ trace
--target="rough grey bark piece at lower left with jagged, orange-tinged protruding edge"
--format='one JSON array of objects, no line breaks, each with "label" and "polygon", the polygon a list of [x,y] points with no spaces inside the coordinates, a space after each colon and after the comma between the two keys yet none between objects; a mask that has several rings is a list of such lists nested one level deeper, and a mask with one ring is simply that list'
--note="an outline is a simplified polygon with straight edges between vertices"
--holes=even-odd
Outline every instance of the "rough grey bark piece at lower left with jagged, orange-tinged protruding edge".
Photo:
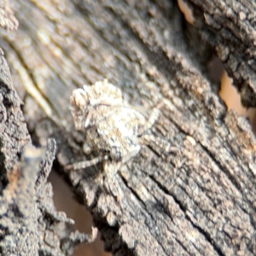
[{"label": "rough grey bark piece at lower left with jagged, orange-tinged protruding edge", "polygon": [[73,219],[56,212],[47,183],[55,141],[32,148],[2,50],[0,63],[0,255],[72,255],[77,243],[96,238],[96,229],[92,236],[73,232]]}]

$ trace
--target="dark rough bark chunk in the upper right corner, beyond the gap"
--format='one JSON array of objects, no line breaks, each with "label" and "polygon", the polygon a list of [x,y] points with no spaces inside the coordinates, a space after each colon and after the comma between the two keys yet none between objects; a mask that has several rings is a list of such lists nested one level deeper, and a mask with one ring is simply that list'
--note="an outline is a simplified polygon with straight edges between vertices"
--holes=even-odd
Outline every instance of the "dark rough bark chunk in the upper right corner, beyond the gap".
[{"label": "dark rough bark chunk in the upper right corner, beyond the gap", "polygon": [[216,49],[247,108],[256,107],[256,3],[254,1],[186,0],[195,26]]}]

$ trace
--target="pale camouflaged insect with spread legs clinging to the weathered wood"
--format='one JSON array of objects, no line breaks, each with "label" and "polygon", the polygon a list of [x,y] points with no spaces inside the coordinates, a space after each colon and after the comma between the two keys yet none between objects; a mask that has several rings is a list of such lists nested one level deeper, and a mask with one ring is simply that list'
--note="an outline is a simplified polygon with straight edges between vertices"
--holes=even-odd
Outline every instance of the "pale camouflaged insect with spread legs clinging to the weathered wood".
[{"label": "pale camouflaged insect with spread legs clinging to the weathered wood", "polygon": [[145,134],[158,119],[160,106],[153,108],[146,119],[143,113],[125,105],[121,90],[107,79],[73,90],[70,103],[76,129],[85,131],[85,153],[94,150],[98,156],[68,165],[67,170],[102,162],[104,172],[113,176],[122,164],[138,154],[143,144],[152,142],[170,150],[165,140]]}]

